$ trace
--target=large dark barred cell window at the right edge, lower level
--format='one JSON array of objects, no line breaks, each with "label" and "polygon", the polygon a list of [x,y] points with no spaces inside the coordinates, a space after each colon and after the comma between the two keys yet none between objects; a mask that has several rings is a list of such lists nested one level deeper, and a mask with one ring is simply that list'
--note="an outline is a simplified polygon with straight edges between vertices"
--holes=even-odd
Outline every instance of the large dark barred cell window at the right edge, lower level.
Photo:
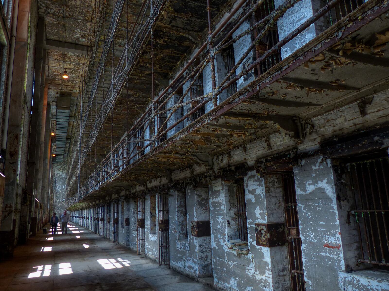
[{"label": "large dark barred cell window at the right edge, lower level", "polygon": [[389,269],[389,158],[350,164],[359,262]]}]

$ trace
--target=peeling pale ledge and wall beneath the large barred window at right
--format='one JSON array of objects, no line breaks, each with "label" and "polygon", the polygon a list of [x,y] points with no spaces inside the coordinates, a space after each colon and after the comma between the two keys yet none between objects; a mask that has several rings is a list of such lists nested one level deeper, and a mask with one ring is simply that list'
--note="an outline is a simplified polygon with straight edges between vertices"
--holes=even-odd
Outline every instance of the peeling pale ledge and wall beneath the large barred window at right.
[{"label": "peeling pale ledge and wall beneath the large barred window at right", "polygon": [[371,291],[389,291],[389,272],[368,269],[354,272],[339,272],[341,290],[363,290],[369,286]]}]

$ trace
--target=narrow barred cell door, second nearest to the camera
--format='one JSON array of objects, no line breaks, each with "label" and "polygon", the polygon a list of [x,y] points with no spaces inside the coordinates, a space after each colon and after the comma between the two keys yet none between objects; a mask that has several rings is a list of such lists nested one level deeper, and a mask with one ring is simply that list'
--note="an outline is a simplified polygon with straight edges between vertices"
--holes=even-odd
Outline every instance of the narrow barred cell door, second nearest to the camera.
[{"label": "narrow barred cell door, second nearest to the camera", "polygon": [[158,249],[159,265],[170,265],[169,197],[158,195]]}]

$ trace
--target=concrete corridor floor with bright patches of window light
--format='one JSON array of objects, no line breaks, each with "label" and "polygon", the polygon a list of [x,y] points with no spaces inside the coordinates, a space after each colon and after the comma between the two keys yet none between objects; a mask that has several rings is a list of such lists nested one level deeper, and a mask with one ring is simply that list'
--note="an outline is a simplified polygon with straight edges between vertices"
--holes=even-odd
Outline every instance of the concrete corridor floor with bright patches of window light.
[{"label": "concrete corridor floor with bright patches of window light", "polygon": [[[0,290],[213,290],[69,223],[68,234],[42,234],[0,262]],[[61,230],[59,230],[61,233]]]}]

